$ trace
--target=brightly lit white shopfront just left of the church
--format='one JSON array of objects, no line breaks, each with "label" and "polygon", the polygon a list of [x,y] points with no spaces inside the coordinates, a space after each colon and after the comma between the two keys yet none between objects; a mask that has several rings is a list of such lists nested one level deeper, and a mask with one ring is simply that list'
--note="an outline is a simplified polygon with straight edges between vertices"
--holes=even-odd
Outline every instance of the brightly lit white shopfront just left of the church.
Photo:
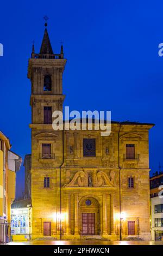
[{"label": "brightly lit white shopfront just left of the church", "polygon": [[29,234],[29,209],[11,210],[11,235]]}]

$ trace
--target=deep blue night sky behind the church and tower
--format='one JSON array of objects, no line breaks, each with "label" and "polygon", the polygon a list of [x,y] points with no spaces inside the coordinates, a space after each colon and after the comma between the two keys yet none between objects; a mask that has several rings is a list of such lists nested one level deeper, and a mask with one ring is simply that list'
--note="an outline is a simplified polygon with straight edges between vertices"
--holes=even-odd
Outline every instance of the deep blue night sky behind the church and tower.
[{"label": "deep blue night sky behind the church and tower", "polygon": [[[53,51],[64,41],[65,105],[111,110],[112,120],[155,123],[149,132],[150,168],[162,160],[162,1],[1,1],[1,125],[12,151],[30,153],[28,58],[39,52],[47,15]],[[162,169],[163,170],[163,169]],[[23,164],[17,195],[24,186]]]}]

